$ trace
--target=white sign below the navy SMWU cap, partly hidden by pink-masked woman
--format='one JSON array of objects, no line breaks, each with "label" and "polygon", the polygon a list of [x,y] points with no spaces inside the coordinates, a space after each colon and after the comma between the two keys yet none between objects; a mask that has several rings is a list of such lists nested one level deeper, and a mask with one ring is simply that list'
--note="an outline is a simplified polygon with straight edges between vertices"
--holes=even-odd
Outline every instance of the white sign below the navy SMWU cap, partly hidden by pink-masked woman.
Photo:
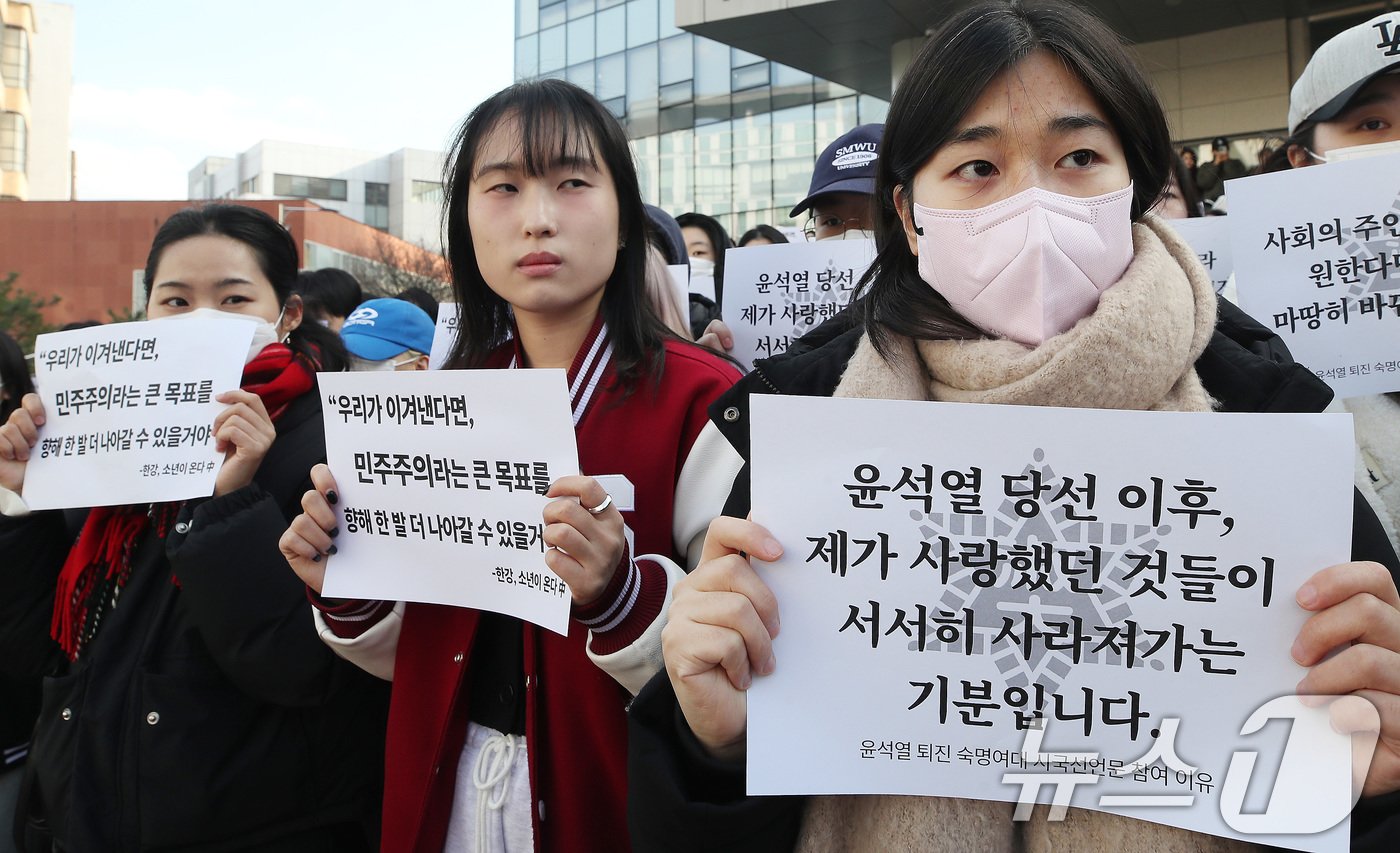
[{"label": "white sign below the navy SMWU cap, partly hidden by pink-masked woman", "polygon": [[836,317],[875,259],[872,240],[823,240],[729,249],[724,322],[745,368]]}]

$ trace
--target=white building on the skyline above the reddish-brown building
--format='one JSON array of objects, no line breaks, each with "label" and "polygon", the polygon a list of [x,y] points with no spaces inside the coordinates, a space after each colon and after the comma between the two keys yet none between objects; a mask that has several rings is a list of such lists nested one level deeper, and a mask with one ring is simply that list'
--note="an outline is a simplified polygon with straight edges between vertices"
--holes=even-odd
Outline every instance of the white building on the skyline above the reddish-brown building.
[{"label": "white building on the skyline above the reddish-brown building", "polygon": [[441,251],[442,154],[391,154],[263,140],[237,157],[206,157],[190,199],[312,199],[430,251]]}]

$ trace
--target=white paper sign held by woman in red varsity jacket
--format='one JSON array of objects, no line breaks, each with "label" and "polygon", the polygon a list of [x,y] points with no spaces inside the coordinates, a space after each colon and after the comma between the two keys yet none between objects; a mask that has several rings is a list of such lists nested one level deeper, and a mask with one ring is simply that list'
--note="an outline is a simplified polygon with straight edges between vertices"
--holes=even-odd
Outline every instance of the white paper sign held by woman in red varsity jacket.
[{"label": "white paper sign held by woman in red varsity jacket", "polygon": [[568,633],[549,485],[578,473],[561,370],[321,374],[339,552],[325,594],[508,613]]}]

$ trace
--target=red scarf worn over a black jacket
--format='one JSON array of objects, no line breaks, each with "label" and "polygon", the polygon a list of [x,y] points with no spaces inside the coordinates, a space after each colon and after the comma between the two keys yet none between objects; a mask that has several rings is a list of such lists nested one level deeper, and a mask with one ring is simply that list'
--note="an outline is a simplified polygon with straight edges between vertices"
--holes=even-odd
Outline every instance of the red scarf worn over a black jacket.
[{"label": "red scarf worn over a black jacket", "polygon": [[[276,423],[287,406],[315,384],[315,364],[291,352],[284,343],[272,343],[244,368],[242,388],[262,398]],[[49,633],[69,660],[95,634],[106,604],[126,585],[132,573],[132,552],[146,528],[154,521],[161,539],[179,515],[182,501],[151,506],[94,507],[78,534],[69,559],[59,571],[53,595],[53,622]]]}]

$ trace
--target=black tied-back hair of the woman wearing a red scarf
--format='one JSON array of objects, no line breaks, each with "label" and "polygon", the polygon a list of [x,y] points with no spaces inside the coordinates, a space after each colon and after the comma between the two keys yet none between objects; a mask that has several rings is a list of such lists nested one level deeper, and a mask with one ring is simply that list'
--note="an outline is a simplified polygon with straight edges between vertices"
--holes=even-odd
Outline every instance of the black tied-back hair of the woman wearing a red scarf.
[{"label": "black tied-back hair of the woman wearing a red scarf", "polygon": [[[171,244],[203,234],[228,237],[252,249],[258,268],[277,294],[277,304],[283,307],[287,304],[297,283],[297,241],[277,224],[277,220],[244,204],[186,207],[161,223],[155,240],[151,241],[151,251],[146,256],[146,275],[141,277],[147,303],[155,284],[155,268],[165,249]],[[315,364],[316,370],[342,371],[350,364],[340,336],[321,324],[311,322],[305,315],[301,325],[287,338],[287,346]]]}]

